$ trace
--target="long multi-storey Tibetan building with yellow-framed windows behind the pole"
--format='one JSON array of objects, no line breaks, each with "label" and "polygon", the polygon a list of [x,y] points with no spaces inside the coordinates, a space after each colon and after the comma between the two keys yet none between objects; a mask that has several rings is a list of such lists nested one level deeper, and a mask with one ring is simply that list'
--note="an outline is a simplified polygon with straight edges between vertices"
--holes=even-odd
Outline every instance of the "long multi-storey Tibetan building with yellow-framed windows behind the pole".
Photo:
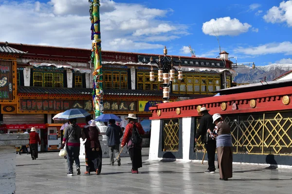
[{"label": "long multi-storey Tibetan building with yellow-framed windows behind the pole", "polygon": [[[42,150],[46,150],[47,140],[60,136],[63,121],[52,120],[55,114],[70,108],[93,114],[90,56],[90,49],[0,42],[0,131],[23,132],[36,127]],[[172,58],[178,61],[179,56]],[[150,130],[149,107],[163,102],[155,66],[154,81],[149,76],[158,60],[159,54],[102,51],[104,112],[120,116],[122,127],[126,126],[128,113],[135,113],[144,129]],[[214,96],[214,91],[231,87],[235,73],[231,64],[225,51],[219,58],[181,57],[173,64],[176,75],[169,100]],[[178,69],[183,71],[182,80],[177,79]]]}]

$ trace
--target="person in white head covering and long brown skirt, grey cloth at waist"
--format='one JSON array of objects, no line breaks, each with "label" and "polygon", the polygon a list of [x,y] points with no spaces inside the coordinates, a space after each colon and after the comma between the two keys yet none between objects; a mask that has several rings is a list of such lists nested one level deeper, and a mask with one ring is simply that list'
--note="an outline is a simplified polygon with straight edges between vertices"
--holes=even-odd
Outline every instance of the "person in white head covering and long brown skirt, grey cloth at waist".
[{"label": "person in white head covering and long brown skirt, grey cloth at waist", "polygon": [[213,115],[213,122],[216,127],[212,132],[208,129],[210,137],[217,139],[217,155],[218,155],[218,168],[220,180],[228,180],[232,178],[232,137],[231,128],[225,123],[219,113]]}]

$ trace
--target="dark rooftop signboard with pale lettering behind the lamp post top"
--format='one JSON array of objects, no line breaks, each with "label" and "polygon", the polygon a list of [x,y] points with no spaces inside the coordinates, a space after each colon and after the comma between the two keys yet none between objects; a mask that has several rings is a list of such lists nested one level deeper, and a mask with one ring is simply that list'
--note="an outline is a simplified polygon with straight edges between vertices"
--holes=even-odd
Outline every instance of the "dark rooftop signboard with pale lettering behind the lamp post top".
[{"label": "dark rooftop signboard with pale lettering behind the lamp post top", "polygon": [[[151,56],[146,56],[146,55],[138,55],[138,62],[142,62],[142,63],[150,63],[150,57]],[[163,57],[163,56],[162,56]],[[161,58],[162,58],[161,57]],[[168,56],[170,58],[170,56]],[[156,63],[159,61],[159,57],[155,56],[152,57],[153,61],[152,63]],[[179,58],[177,57],[173,57],[174,61],[178,61]],[[174,65],[179,65],[179,63],[175,63]],[[225,67],[224,62],[223,61],[217,61],[217,60],[204,60],[204,59],[200,59],[200,58],[181,58],[181,65],[182,66],[200,66],[200,67],[216,67],[216,68],[223,68]]]}]

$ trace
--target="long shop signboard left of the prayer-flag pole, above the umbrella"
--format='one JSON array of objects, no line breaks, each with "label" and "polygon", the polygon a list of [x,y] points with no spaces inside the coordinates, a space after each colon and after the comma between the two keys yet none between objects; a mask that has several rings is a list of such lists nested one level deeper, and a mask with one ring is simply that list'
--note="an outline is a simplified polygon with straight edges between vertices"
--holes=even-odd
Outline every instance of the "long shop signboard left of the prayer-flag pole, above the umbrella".
[{"label": "long shop signboard left of the prayer-flag pole, above the umbrella", "polygon": [[19,99],[18,113],[60,113],[68,109],[93,110],[91,100]]}]

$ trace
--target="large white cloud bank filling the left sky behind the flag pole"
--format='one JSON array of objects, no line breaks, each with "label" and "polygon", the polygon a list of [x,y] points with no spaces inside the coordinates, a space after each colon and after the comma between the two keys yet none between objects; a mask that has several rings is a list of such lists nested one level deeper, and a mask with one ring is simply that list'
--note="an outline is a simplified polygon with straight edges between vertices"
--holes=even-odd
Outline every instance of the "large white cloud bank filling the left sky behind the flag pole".
[{"label": "large white cloud bank filling the left sky behind the flag pole", "polygon": [[[173,10],[113,0],[101,0],[100,3],[104,50],[163,49],[161,42],[188,34],[186,25],[170,25],[167,16]],[[0,19],[0,26],[5,29],[0,31],[1,41],[91,48],[88,0],[50,0],[48,3],[0,0],[0,18],[5,18]],[[128,42],[129,46],[117,42]]]}]

